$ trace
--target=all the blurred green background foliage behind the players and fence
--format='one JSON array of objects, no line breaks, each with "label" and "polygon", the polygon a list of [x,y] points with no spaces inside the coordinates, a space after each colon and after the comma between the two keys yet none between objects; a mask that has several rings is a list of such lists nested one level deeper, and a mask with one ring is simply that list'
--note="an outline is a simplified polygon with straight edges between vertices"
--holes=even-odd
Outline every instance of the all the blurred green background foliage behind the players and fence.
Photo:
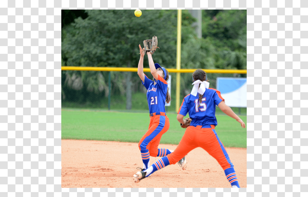
[{"label": "all the blurred green background foliage behind the players and fence", "polygon": [[[182,10],[181,68],[246,69],[246,10],[202,10],[201,38],[192,26],[195,21]],[[141,17],[134,10],[62,10],[62,66],[137,67],[138,45],[155,35],[160,49],[153,60],[176,68],[176,25],[177,10],[142,10]],[[62,71],[62,107],[106,108],[108,74]],[[170,75],[169,111],[174,111],[176,74]],[[209,73],[211,88],[217,77],[246,75]],[[191,90],[191,73],[181,73],[180,85],[182,100]],[[137,73],[111,72],[112,109],[147,109],[145,92]]]}]

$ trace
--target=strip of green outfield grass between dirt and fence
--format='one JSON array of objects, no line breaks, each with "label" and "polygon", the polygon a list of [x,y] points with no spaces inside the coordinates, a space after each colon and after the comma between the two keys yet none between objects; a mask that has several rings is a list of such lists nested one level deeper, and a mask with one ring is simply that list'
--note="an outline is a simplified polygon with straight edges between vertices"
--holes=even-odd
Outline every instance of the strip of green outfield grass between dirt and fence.
[{"label": "strip of green outfield grass between dirt and fence", "polygon": [[[139,142],[148,130],[148,112],[115,112],[103,110],[62,109],[62,139]],[[167,113],[169,130],[160,144],[179,144],[185,129],[176,120],[176,113]],[[188,116],[187,116],[188,117]],[[226,115],[217,115],[215,128],[225,147],[246,148],[246,128]],[[240,116],[246,123],[246,116]]]}]

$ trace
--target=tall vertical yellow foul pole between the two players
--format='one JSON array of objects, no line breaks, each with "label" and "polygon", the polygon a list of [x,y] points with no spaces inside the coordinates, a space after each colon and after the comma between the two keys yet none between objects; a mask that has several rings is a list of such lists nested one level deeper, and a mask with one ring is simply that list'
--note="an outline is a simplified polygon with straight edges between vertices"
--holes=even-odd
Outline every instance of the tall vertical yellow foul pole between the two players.
[{"label": "tall vertical yellow foul pole between the two players", "polygon": [[[182,10],[177,10],[177,41],[176,41],[176,69],[181,69],[181,28]],[[180,72],[176,73],[176,112],[180,108]]]}]

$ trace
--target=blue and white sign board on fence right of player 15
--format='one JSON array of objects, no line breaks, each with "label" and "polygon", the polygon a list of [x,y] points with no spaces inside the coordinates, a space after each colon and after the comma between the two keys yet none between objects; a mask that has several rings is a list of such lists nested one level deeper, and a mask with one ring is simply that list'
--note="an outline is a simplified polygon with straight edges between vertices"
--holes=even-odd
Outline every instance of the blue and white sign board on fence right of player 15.
[{"label": "blue and white sign board on fence right of player 15", "polygon": [[247,107],[247,78],[217,77],[217,90],[229,107]]}]

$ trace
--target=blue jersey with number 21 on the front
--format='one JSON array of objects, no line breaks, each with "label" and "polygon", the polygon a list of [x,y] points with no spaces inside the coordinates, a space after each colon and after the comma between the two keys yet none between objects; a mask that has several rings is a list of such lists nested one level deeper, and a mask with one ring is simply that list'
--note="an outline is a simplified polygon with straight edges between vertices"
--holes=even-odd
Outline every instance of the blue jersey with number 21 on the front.
[{"label": "blue jersey with number 21 on the front", "polygon": [[144,87],[147,89],[147,99],[150,113],[165,112],[167,82],[158,75],[156,84],[144,75]]}]

